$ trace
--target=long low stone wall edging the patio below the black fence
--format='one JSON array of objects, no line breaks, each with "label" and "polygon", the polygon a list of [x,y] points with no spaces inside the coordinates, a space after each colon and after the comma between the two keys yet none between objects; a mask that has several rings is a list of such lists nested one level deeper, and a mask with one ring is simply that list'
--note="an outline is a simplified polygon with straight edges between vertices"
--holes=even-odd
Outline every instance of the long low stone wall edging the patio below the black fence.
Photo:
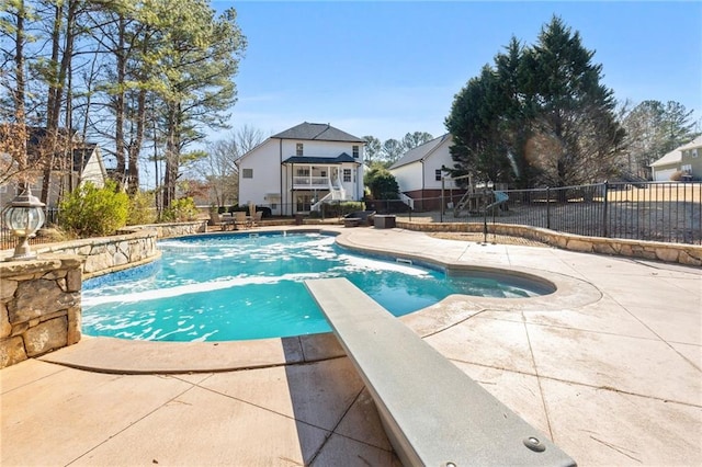
[{"label": "long low stone wall edging the patio below the black fence", "polygon": [[[408,223],[397,220],[397,227],[419,231],[482,232],[484,225],[479,223]],[[702,246],[699,244],[585,237],[513,224],[488,224],[487,229],[488,234],[528,238],[564,250],[585,253],[616,254],[629,258],[679,263],[689,266],[702,265]]]}]

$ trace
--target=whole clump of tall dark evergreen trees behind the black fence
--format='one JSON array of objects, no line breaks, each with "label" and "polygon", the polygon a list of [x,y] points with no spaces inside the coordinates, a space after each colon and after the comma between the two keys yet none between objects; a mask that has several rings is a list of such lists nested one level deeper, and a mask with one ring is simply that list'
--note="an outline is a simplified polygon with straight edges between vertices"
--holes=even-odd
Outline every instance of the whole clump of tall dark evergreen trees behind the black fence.
[{"label": "whole clump of tall dark evergreen trees behind the black fence", "polygon": [[612,173],[624,132],[592,56],[555,16],[534,46],[512,38],[454,99],[445,121],[454,137],[452,173],[522,186]]}]

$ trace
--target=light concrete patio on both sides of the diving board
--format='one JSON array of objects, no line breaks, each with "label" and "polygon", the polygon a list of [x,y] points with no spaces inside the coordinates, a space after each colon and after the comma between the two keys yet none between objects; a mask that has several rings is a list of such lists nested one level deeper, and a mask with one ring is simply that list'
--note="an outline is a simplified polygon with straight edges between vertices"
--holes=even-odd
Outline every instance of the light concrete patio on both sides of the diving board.
[{"label": "light concrete patio on both sides of the diving board", "polygon": [[[700,269],[336,229],[349,248],[556,283],[539,298],[454,295],[403,320],[580,466],[702,463]],[[399,465],[331,334],[84,337],[0,371],[0,388],[2,466]]]}]

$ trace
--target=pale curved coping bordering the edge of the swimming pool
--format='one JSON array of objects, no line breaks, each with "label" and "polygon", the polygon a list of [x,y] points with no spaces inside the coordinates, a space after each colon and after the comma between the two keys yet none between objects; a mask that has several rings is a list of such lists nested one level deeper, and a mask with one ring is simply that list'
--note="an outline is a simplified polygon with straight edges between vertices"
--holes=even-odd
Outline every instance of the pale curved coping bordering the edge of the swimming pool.
[{"label": "pale curved coping bordering the edge of the swimming pool", "polygon": [[[312,226],[310,226],[312,227]],[[454,294],[427,308],[405,315],[403,320],[427,338],[485,311],[506,314],[558,311],[587,306],[601,299],[601,292],[588,282],[564,274],[526,267],[488,267],[469,261],[442,261],[427,254],[405,254],[367,246],[350,239],[342,229],[301,228],[269,231],[318,231],[336,235],[344,248],[363,253],[416,259],[449,270],[503,271],[512,275],[541,277],[556,286],[553,294],[529,298],[489,298]],[[539,247],[532,247],[539,248]],[[77,345],[45,354],[38,360],[79,369],[114,374],[192,374],[231,372],[282,365],[306,364],[344,356],[331,332],[292,338],[223,342],[154,342],[87,337]]]}]

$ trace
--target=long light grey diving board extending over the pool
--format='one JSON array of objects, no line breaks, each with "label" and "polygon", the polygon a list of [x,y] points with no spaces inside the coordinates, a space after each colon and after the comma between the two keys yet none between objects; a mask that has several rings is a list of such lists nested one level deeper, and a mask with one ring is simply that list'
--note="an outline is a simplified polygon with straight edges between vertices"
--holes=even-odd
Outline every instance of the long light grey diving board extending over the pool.
[{"label": "long light grey diving board extending over the pool", "polygon": [[405,466],[575,462],[347,278],[305,281]]}]

